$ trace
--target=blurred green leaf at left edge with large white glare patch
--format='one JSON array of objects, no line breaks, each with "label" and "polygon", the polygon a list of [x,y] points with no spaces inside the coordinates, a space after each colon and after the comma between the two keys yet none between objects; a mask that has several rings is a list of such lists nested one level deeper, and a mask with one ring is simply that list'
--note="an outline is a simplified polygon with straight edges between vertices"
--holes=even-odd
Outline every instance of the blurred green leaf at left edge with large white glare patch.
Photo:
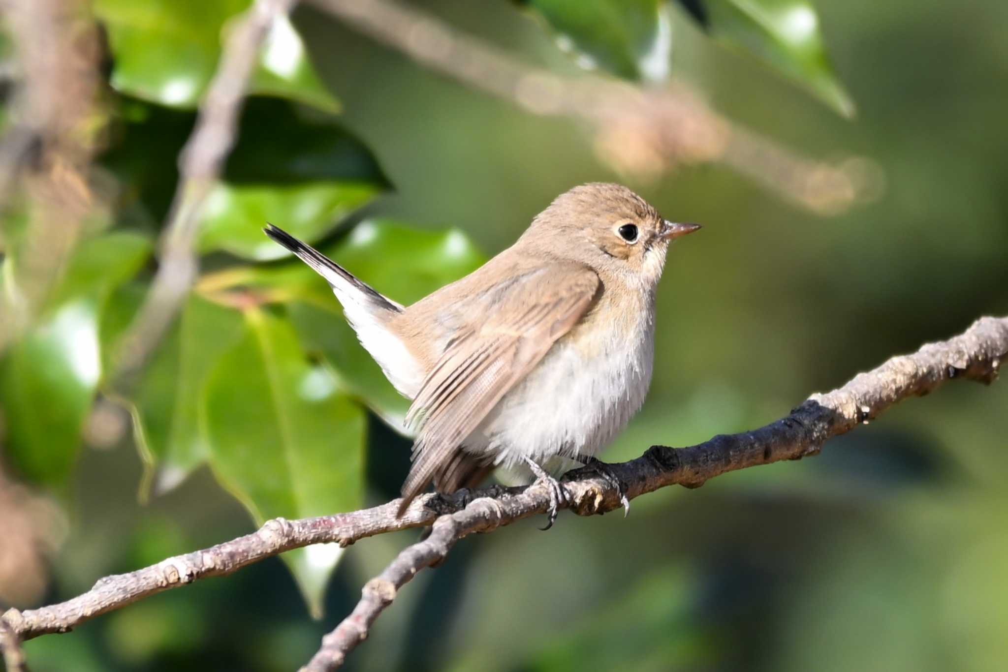
[{"label": "blurred green leaf at left edge with large white glare patch", "polygon": [[147,239],[128,233],[82,243],[49,307],[7,352],[0,371],[5,451],[26,479],[54,488],[67,483],[102,376],[100,316],[109,294],[149,252]]}]

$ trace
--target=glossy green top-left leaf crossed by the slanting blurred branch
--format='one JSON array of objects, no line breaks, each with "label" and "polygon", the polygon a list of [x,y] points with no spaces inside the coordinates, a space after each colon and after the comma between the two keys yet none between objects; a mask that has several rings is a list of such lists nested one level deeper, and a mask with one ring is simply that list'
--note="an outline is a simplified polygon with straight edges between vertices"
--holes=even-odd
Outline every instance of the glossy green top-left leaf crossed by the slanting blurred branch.
[{"label": "glossy green top-left leaf crossed by the slanting blurred branch", "polygon": [[[108,29],[117,91],[161,105],[195,108],[206,93],[222,44],[249,0],[98,0]],[[337,112],[290,21],[278,20],[263,44],[251,93],[281,96]]]}]

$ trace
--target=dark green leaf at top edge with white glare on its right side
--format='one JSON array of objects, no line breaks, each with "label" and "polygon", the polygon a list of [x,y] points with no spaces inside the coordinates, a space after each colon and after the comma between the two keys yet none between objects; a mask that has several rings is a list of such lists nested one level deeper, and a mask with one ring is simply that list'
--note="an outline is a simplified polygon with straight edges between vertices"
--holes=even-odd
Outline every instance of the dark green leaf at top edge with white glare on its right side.
[{"label": "dark green leaf at top edge with white glare on its right side", "polygon": [[671,23],[660,0],[521,0],[558,33],[579,62],[629,80],[668,77]]}]

